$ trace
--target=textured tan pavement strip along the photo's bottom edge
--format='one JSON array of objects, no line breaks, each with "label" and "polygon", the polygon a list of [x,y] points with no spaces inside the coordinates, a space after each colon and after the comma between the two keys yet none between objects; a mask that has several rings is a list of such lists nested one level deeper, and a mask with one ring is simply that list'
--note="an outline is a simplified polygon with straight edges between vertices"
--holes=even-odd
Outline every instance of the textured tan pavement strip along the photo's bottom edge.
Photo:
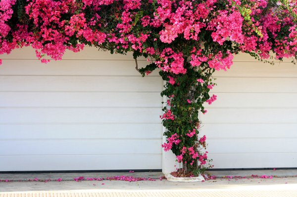
[{"label": "textured tan pavement strip along the photo's bottom edge", "polygon": [[297,190],[95,190],[63,192],[7,192],[0,197],[297,197]]}]

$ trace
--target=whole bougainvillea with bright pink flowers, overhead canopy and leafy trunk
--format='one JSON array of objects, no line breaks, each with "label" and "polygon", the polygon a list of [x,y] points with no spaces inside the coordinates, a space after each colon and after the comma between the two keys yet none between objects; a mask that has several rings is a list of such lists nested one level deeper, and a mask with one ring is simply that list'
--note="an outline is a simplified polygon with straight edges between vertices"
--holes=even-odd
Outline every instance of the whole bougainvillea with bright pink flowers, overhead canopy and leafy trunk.
[{"label": "whole bougainvillea with bright pink flowers, overhead canopy and leafy trunk", "polygon": [[[162,96],[167,142],[183,173],[207,161],[198,113],[239,52],[258,60],[297,56],[296,0],[0,0],[0,54],[31,45],[42,62],[85,45],[153,62],[166,81]],[[1,64],[1,61],[0,61]]]}]

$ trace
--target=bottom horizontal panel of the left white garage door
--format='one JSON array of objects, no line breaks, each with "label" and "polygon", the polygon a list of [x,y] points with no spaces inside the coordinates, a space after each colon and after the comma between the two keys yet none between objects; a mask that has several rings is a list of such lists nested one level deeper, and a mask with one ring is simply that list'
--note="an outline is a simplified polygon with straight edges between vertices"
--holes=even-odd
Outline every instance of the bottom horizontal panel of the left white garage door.
[{"label": "bottom horizontal panel of the left white garage door", "polygon": [[0,156],[0,171],[161,169],[162,155]]}]

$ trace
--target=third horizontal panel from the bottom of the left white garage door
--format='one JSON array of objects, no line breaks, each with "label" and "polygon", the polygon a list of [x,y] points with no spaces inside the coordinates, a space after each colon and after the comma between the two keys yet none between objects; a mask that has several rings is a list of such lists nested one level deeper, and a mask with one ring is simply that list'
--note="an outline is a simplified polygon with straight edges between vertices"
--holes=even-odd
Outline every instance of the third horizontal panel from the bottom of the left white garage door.
[{"label": "third horizontal panel from the bottom of the left white garage door", "polygon": [[162,138],[159,124],[0,124],[2,139]]}]

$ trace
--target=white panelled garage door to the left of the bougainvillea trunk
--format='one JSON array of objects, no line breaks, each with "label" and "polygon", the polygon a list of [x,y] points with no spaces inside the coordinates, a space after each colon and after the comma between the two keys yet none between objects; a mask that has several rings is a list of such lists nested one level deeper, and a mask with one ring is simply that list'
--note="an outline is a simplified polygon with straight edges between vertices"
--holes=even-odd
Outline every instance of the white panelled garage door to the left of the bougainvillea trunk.
[{"label": "white panelled garage door to the left of the bougainvillea trunk", "polygon": [[157,72],[96,48],[46,65],[29,48],[0,58],[0,171],[161,169]]}]

